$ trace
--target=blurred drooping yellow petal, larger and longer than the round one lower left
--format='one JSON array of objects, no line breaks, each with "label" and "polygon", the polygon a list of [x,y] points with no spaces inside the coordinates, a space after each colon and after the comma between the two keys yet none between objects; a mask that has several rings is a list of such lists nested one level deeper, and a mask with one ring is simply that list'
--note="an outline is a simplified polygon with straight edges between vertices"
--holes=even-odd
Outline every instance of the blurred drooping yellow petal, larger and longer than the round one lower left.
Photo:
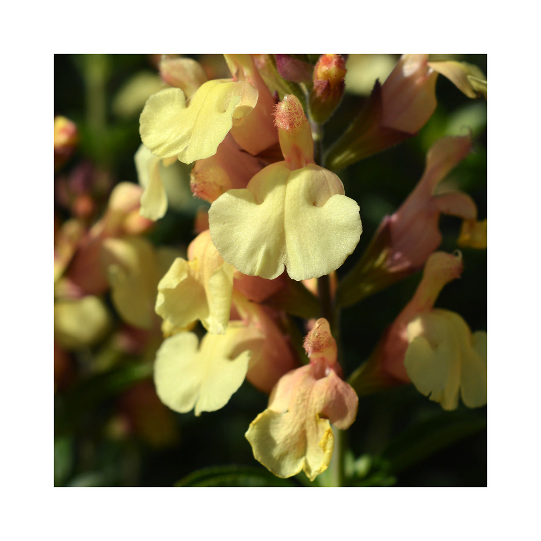
[{"label": "blurred drooping yellow petal, larger and longer than the round one lower left", "polygon": [[103,241],[101,258],[111,299],[124,321],[144,329],[155,325],[156,287],[176,255],[170,248],[156,250],[142,237]]}]

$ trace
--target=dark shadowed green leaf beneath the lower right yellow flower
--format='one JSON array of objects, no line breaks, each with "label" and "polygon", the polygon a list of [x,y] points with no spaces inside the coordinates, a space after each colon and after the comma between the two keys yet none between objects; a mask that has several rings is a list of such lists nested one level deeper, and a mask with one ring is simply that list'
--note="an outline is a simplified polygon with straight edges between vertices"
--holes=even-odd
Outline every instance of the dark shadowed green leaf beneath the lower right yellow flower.
[{"label": "dark shadowed green leaf beneath the lower right yellow flower", "polygon": [[383,453],[390,470],[398,473],[432,454],[486,429],[486,418],[467,411],[441,412],[407,428]]}]

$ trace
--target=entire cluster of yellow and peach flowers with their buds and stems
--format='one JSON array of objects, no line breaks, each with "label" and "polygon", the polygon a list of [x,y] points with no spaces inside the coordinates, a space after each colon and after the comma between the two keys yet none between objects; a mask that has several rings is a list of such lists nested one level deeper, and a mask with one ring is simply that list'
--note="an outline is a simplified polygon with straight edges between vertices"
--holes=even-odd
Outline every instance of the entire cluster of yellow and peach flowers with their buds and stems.
[{"label": "entire cluster of yellow and peach flowers with their buds and stems", "polygon": [[[349,274],[336,274],[362,234],[362,209],[337,173],[417,134],[436,108],[439,74],[470,98],[486,98],[484,75],[470,64],[403,55],[325,147],[346,58],[225,55],[230,77],[209,78],[193,59],[164,56],[166,88],[140,115],[140,186],[118,184],[94,225],[68,221],[55,235],[57,342],[98,340],[110,325],[100,298],[109,292],[126,324],[160,342],[154,384],[170,410],[214,412],[245,380],[269,394],[246,439],[281,478],[304,471],[314,481],[327,470],[335,431],[354,423],[364,394],[413,384],[444,410],[459,397],[467,407],[486,404],[486,332],[434,307],[463,270],[460,252],[436,251],[440,215],[462,220],[457,246],[486,248],[473,199],[441,189],[469,155],[471,134],[433,142],[418,185],[348,261]],[[55,157],[57,131],[62,157],[75,132],[55,122]],[[208,207],[186,252],[155,248],[145,236],[168,212],[166,177],[178,162]],[[411,301],[370,358],[352,361],[358,368],[346,381],[340,309],[421,270]]]}]

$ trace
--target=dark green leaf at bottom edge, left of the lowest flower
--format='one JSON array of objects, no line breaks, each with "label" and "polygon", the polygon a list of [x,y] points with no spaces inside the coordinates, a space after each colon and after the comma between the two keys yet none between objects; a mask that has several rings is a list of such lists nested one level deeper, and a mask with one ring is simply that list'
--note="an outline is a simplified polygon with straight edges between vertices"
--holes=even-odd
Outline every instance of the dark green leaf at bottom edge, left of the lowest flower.
[{"label": "dark green leaf at bottom edge, left of the lowest flower", "polygon": [[296,486],[252,466],[212,466],[190,473],[175,486]]}]

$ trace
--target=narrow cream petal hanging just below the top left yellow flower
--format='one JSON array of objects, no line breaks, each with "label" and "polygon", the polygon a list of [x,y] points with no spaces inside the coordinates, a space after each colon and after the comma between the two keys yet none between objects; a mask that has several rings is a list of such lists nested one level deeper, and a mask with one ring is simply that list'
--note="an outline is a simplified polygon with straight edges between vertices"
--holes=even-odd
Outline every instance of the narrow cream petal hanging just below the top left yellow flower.
[{"label": "narrow cream petal hanging just below the top left yellow flower", "polygon": [[159,220],[167,212],[167,195],[160,177],[161,158],[142,144],[135,153],[137,178],[144,191],[139,212],[149,220]]}]

